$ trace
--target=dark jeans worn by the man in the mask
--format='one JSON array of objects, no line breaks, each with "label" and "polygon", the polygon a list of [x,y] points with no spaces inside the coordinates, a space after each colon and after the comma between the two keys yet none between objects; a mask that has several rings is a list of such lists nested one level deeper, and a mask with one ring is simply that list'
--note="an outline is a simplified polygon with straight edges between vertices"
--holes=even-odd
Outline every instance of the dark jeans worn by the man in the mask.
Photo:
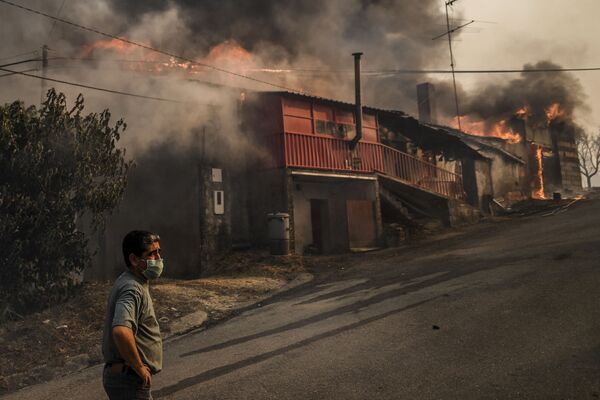
[{"label": "dark jeans worn by the man in the mask", "polygon": [[110,400],[152,400],[150,386],[145,386],[133,370],[111,372],[110,367],[105,366],[102,384]]}]

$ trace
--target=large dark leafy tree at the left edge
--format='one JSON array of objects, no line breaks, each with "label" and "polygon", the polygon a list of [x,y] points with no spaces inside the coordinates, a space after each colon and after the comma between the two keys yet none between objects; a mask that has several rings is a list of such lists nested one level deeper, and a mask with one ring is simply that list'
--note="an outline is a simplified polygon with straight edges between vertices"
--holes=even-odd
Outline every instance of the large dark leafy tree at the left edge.
[{"label": "large dark leafy tree at the left edge", "polygon": [[[39,109],[0,107],[0,312],[63,299],[90,262],[90,231],[119,203],[131,166],[116,147],[126,125],[83,114],[51,89]],[[85,218],[84,218],[85,217]]]}]

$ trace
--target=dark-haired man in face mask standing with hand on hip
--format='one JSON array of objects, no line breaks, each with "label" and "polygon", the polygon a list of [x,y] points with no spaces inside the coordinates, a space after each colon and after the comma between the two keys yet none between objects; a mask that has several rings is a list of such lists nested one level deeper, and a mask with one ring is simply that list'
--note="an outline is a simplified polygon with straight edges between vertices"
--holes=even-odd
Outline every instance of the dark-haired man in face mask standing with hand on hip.
[{"label": "dark-haired man in face mask standing with hand on hip", "polygon": [[160,276],[160,237],[147,231],[123,239],[126,270],[108,299],[102,339],[102,383],[109,399],[152,399],[152,375],[162,369],[162,339],[148,281]]}]

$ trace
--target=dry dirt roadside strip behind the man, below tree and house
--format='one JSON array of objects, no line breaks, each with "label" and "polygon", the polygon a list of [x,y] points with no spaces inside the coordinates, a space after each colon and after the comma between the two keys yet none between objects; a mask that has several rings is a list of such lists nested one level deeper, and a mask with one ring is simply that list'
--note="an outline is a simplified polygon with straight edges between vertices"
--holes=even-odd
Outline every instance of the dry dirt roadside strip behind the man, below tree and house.
[{"label": "dry dirt roadside strip behind the man, below tree and house", "polygon": [[[260,301],[306,272],[302,257],[234,253],[223,273],[204,279],[159,279],[151,285],[156,316],[171,325],[196,311],[213,322]],[[102,362],[100,344],[111,282],[84,283],[66,303],[0,326],[0,396]]]}]

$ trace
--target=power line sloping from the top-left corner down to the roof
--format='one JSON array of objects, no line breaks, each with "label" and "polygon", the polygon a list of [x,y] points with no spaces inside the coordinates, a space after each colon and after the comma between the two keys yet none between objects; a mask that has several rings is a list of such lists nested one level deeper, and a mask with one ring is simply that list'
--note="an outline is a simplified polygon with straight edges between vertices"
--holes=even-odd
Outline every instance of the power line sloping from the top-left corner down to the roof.
[{"label": "power line sloping from the top-left corner down to the roof", "polygon": [[137,42],[134,42],[134,41],[129,40],[129,39],[125,39],[125,38],[122,38],[122,37],[119,37],[119,36],[111,35],[109,33],[105,33],[105,32],[99,31],[99,30],[94,29],[94,28],[89,28],[87,26],[83,26],[83,25],[77,24],[75,22],[67,21],[65,19],[58,18],[58,17],[52,16],[50,14],[46,14],[44,12],[41,12],[41,11],[38,11],[38,10],[34,10],[32,8],[28,8],[28,7],[22,6],[20,4],[15,4],[15,3],[11,2],[11,1],[8,1],[8,0],[0,0],[0,2],[2,2],[4,4],[8,4],[9,6],[20,8],[22,10],[25,10],[25,11],[28,11],[28,12],[31,12],[31,13],[34,13],[34,14],[41,15],[41,16],[46,17],[46,18],[50,18],[50,19],[52,19],[54,21],[58,21],[58,22],[61,22],[63,24],[71,25],[71,26],[74,26],[76,28],[88,31],[88,32],[93,32],[93,33],[96,33],[96,34],[101,35],[101,36],[105,36],[105,37],[108,37],[108,38],[111,38],[111,39],[119,40],[119,41],[121,41],[123,43],[127,43],[127,44],[131,44],[133,46],[141,47],[143,49],[150,50],[150,51],[153,51],[153,52],[156,52],[156,53],[159,53],[159,54],[164,54],[166,56],[173,57],[173,58],[176,58],[176,59],[179,59],[179,60],[182,60],[182,61],[186,61],[186,62],[195,64],[195,65],[200,65],[202,67],[210,68],[210,69],[213,69],[215,71],[219,71],[219,72],[223,72],[223,73],[226,73],[226,74],[234,75],[234,76],[237,76],[237,77],[240,77],[240,78],[244,78],[244,79],[248,79],[248,80],[251,80],[251,81],[254,81],[254,82],[262,83],[264,85],[273,86],[273,87],[276,87],[276,88],[279,88],[279,89],[284,89],[284,90],[287,90],[287,91],[290,91],[290,92],[296,92],[296,93],[300,93],[300,94],[305,94],[303,91],[298,90],[298,89],[288,88],[288,87],[283,86],[283,85],[278,85],[276,83],[264,81],[262,79],[252,78],[250,76],[239,74],[239,73],[233,72],[233,71],[229,71],[229,70],[226,70],[226,69],[223,69],[223,68],[220,68],[220,67],[216,67],[214,65],[210,65],[210,64],[206,64],[206,63],[201,63],[201,62],[198,62],[198,61],[194,61],[194,60],[191,60],[189,58],[185,58],[185,57],[179,56],[177,54],[169,53],[167,51],[159,50],[159,49],[156,49],[154,47],[150,47],[150,46],[147,46],[147,45],[144,45],[144,44],[141,44],[141,43],[137,43]]}]

